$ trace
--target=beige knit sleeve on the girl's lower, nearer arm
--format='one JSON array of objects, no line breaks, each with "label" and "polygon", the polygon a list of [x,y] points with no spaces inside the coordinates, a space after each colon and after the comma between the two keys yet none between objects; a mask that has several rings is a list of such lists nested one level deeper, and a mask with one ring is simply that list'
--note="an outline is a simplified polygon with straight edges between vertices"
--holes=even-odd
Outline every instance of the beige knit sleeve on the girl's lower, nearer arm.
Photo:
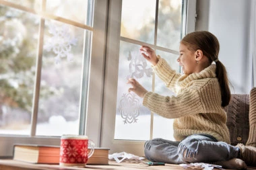
[{"label": "beige knit sleeve on the girl's lower, nearer arm", "polygon": [[143,105],[164,118],[181,118],[203,112],[199,94],[195,89],[185,89],[177,96],[162,96],[148,92]]}]

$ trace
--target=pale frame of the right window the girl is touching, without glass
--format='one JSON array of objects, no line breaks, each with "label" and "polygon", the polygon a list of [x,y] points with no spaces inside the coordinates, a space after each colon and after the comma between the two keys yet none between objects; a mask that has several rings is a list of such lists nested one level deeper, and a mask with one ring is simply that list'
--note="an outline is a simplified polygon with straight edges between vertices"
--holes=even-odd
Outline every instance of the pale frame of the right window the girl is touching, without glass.
[{"label": "pale frame of the right window the girl is touching, without glass", "polygon": [[[100,146],[110,148],[110,153],[127,152],[135,155],[143,156],[143,144],[145,141],[131,141],[131,140],[115,140],[115,116],[113,108],[116,108],[116,94],[118,65],[119,65],[119,46],[120,40],[129,41],[128,38],[120,36],[121,32],[121,8],[122,2],[120,0],[110,0],[108,9],[108,33],[106,44],[106,73],[104,81],[104,99],[102,110],[102,134],[100,139]],[[196,0],[185,0],[187,11],[185,15],[187,19],[183,21],[185,27],[185,34],[195,30],[195,7]],[[184,29],[184,28],[183,28]],[[135,40],[132,43],[136,44]],[[113,48],[115,47],[115,48]],[[159,50],[170,51],[166,48],[154,46],[153,48]],[[177,52],[175,52],[177,53]],[[113,85],[115,84],[115,85]],[[111,102],[108,102],[111,100]],[[152,127],[151,127],[152,128]],[[152,130],[151,130],[152,131]],[[109,137],[110,136],[110,137]],[[152,136],[152,135],[151,135]]]}]

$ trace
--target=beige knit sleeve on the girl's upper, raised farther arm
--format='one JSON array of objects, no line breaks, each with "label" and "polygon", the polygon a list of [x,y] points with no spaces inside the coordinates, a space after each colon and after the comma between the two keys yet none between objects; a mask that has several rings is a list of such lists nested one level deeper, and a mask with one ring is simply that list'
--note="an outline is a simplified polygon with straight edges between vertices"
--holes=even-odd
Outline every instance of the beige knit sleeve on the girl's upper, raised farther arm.
[{"label": "beige knit sleeve on the girl's upper, raised farther arm", "polygon": [[159,55],[157,65],[153,66],[152,68],[154,69],[154,73],[156,73],[156,75],[158,75],[158,77],[164,81],[166,87],[177,93],[175,85],[177,79],[181,77],[181,74],[176,73],[176,71],[171,69],[166,60],[161,58]]}]

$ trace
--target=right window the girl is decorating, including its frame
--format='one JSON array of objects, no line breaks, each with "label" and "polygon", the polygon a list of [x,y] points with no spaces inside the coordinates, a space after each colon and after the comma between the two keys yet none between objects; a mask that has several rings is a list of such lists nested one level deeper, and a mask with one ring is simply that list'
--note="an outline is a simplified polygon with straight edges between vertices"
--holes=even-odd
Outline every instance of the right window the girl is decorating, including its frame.
[{"label": "right window the girl is decorating, including its frame", "polygon": [[110,9],[121,8],[109,12],[108,28],[117,30],[108,33],[106,53],[102,146],[110,147],[112,152],[143,155],[145,140],[173,139],[172,120],[143,107],[142,99],[128,92],[127,79],[137,79],[148,91],[173,94],[154,75],[139,48],[154,48],[172,69],[180,71],[177,57],[179,42],[188,30],[187,5],[187,1],[174,0],[123,0],[110,4]]}]

